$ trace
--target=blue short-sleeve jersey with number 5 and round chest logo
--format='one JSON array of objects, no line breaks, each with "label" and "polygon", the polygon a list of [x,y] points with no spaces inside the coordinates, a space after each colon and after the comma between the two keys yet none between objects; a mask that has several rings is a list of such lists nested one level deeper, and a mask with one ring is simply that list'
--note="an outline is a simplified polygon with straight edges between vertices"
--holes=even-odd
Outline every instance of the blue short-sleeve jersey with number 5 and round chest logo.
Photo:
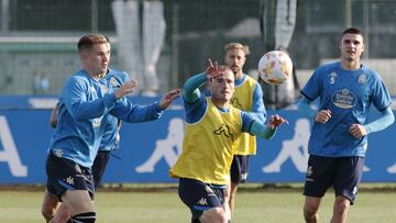
[{"label": "blue short-sleeve jersey with number 5 and round chest logo", "polygon": [[309,138],[309,154],[342,157],[364,157],[367,136],[354,138],[349,129],[366,122],[373,104],[383,111],[391,105],[391,96],[377,73],[362,65],[356,70],[345,70],[340,62],[319,67],[301,93],[310,101],[319,98],[319,110],[330,110],[327,123],[314,123]]}]

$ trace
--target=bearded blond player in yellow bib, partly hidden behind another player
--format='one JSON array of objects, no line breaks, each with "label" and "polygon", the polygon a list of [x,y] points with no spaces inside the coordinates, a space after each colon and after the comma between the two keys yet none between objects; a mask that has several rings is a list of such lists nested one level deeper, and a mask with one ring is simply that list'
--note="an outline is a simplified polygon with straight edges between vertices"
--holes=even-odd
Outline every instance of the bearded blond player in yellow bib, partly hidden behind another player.
[{"label": "bearded blond player in yellow bib, partly hidden behind another player", "polygon": [[[242,111],[249,111],[254,114],[257,122],[265,123],[266,112],[263,102],[263,90],[260,83],[243,74],[243,66],[246,62],[246,56],[250,54],[249,46],[240,43],[230,43],[224,47],[224,62],[231,68],[235,78],[235,91],[230,103]],[[233,156],[230,169],[230,187],[227,188],[224,196],[226,209],[229,204],[229,215],[231,219],[235,207],[235,196],[239,183],[246,182],[249,175],[249,157],[256,153],[256,138],[249,133],[242,133],[240,148]]]}]

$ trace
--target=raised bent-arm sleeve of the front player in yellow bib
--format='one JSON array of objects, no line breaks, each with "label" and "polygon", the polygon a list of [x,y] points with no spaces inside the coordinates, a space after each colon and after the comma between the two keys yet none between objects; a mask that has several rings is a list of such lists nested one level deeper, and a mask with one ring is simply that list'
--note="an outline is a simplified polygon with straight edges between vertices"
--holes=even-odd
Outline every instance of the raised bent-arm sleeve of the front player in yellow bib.
[{"label": "raised bent-arm sleeve of the front player in yellow bib", "polygon": [[188,103],[194,103],[200,98],[199,87],[206,81],[207,77],[205,73],[198,74],[189,78],[183,86],[183,98]]}]

